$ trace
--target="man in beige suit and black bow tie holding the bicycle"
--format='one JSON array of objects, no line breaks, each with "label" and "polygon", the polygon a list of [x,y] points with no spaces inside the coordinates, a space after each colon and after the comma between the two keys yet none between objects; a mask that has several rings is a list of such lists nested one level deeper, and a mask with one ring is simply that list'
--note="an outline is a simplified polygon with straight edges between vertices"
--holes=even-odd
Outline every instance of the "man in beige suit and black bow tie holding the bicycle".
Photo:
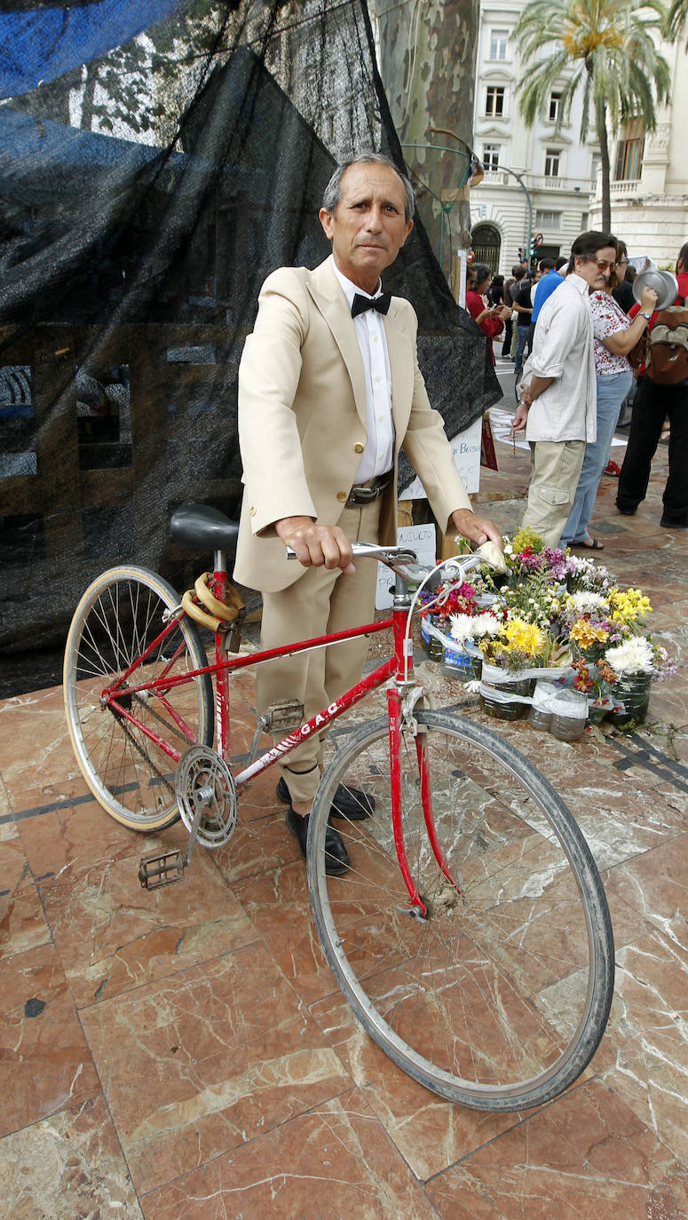
[{"label": "man in beige suit and black bow tie holding the bicycle", "polygon": [[[332,256],[315,271],[282,267],[262,287],[239,368],[245,486],[234,576],[262,592],[263,648],[371,621],[377,565],[355,569],[351,542],[395,542],[401,445],[443,528],[453,521],[466,538],[501,545],[496,527],[472,512],[429,405],[416,315],[381,289],[412,214],[411,185],[390,161],[371,154],[346,162],[320,211]],[[366,648],[362,638],[259,666],[259,709],[295,698],[311,717],[359,680]],[[322,749],[307,738],[285,759],[278,784],[304,858]],[[338,792],[333,815],[366,816],[361,795]],[[327,871],[346,871],[333,827],[326,849]]]}]

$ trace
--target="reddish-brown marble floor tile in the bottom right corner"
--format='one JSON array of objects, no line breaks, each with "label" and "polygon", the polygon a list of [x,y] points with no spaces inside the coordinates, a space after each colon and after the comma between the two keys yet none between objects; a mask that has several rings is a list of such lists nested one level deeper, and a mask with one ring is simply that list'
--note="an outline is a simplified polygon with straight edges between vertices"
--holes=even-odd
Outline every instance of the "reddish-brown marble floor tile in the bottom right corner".
[{"label": "reddish-brown marble floor tile in the bottom right corner", "polygon": [[604,1085],[572,1089],[426,1186],[443,1220],[686,1220],[688,1174]]}]

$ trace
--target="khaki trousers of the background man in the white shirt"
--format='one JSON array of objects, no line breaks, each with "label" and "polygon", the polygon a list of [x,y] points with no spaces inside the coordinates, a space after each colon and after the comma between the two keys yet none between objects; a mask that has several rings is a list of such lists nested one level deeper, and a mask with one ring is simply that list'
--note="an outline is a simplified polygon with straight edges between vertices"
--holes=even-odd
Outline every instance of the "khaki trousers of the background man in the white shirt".
[{"label": "khaki trousers of the background man in the white shirt", "polygon": [[545,547],[556,547],[568,520],[586,454],[584,440],[536,440],[528,504],[521,528],[534,529]]}]

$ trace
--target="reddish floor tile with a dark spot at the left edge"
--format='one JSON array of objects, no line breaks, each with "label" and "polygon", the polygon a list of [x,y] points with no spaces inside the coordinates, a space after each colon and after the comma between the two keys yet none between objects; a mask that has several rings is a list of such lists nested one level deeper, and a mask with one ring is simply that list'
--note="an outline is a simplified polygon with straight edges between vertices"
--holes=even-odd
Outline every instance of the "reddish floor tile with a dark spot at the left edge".
[{"label": "reddish floor tile with a dark spot at the left edge", "polygon": [[51,944],[0,961],[0,1136],[100,1089]]}]

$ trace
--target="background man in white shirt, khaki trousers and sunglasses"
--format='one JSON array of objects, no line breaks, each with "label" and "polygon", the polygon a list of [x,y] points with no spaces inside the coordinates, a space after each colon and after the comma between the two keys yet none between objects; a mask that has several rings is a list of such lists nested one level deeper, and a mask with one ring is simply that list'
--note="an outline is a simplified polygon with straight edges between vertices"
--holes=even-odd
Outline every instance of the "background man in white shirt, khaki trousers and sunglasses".
[{"label": "background man in white shirt, khaki trousers and sunglasses", "polygon": [[521,383],[514,431],[531,442],[532,472],[522,527],[556,547],[573,501],[586,442],[597,437],[597,382],[589,293],[615,267],[609,233],[571,246],[568,274],[544,303]]}]

